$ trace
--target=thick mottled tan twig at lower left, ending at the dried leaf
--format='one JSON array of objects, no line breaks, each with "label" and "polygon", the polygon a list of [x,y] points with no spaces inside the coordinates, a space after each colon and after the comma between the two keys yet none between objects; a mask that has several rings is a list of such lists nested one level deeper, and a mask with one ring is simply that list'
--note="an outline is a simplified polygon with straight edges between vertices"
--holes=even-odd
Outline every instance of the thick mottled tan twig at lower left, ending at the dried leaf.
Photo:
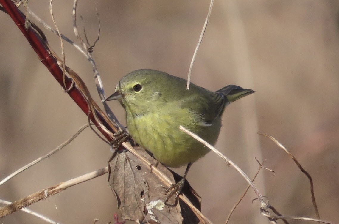
[{"label": "thick mottled tan twig at lower left, ending at the dried leaf", "polygon": [[59,193],[63,190],[66,190],[67,188],[69,188],[71,186],[85,182],[87,180],[91,180],[91,179],[98,177],[98,176],[101,176],[105,173],[108,173],[108,167],[99,169],[99,170],[91,172],[91,173],[84,174],[82,176],[73,178],[71,180],[67,180],[65,182],[58,183],[58,184],[50,186],[48,188],[42,189],[39,192],[36,192],[34,194],[31,194],[27,197],[24,197],[24,198],[18,200],[18,201],[15,201],[15,202],[13,202],[9,205],[1,207],[0,208],[0,218],[7,216],[11,213],[14,213],[15,211],[17,211],[17,210],[19,210],[23,207],[31,205],[35,202],[38,202],[42,199],[49,197],[49,196],[57,194],[57,193]]}]

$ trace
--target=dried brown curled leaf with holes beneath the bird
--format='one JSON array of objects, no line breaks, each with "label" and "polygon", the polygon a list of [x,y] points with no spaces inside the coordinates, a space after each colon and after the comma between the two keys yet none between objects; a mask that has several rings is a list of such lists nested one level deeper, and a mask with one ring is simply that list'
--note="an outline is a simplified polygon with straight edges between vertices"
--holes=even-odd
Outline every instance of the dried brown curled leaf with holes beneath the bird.
[{"label": "dried brown curled leaf with holes beneath the bird", "polygon": [[[174,182],[173,171],[164,167],[145,150],[138,150],[138,152]],[[162,224],[199,222],[193,211],[181,200],[176,207],[164,204],[166,187],[151,169],[148,169],[131,152],[125,150],[115,152],[109,160],[108,167],[108,182],[117,198],[119,211],[124,219]],[[181,177],[176,175],[178,181]],[[185,182],[183,193],[200,209],[200,199],[192,192],[195,191],[191,189],[188,182]],[[174,202],[174,199],[172,200]]]}]

